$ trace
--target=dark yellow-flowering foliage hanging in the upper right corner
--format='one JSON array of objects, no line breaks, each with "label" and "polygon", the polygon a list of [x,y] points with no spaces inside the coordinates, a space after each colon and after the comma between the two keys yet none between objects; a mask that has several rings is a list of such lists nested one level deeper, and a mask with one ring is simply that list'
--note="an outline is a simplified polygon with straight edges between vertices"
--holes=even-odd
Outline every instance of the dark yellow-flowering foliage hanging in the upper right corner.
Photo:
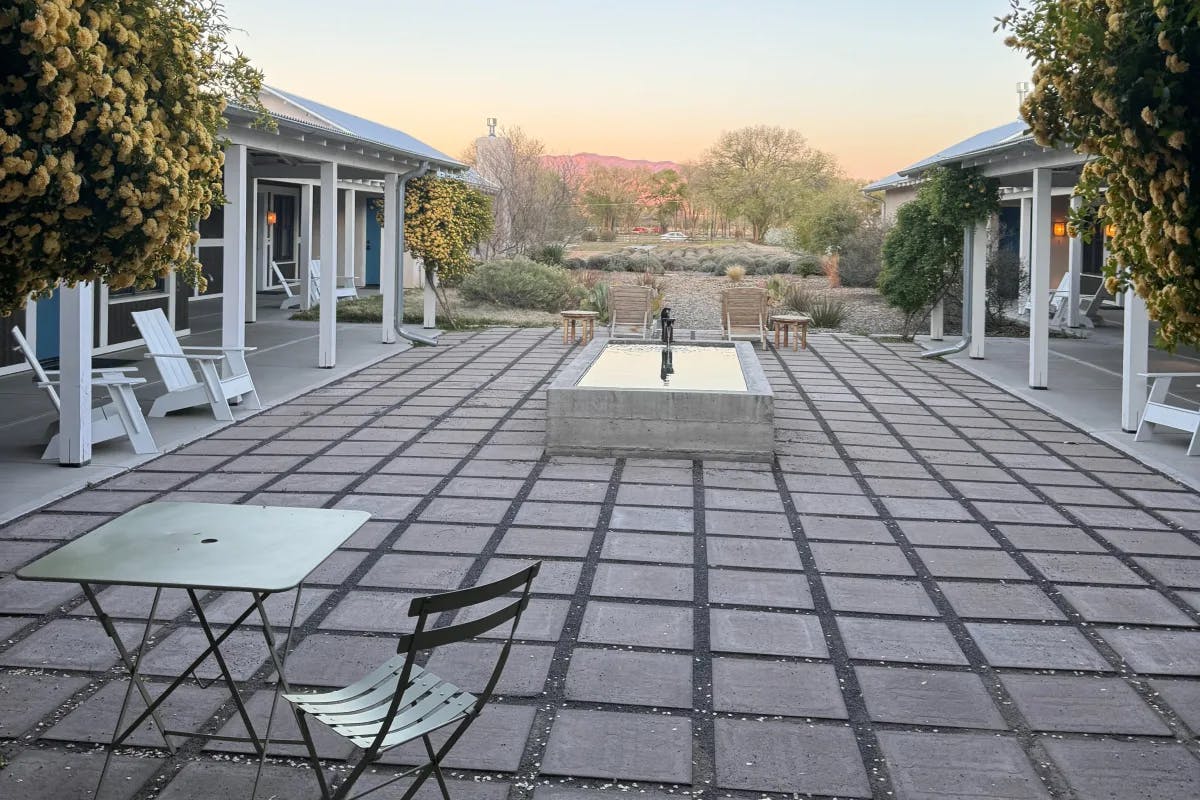
[{"label": "dark yellow-flowering foliage hanging in the upper right corner", "polygon": [[1109,288],[1146,300],[1163,344],[1200,343],[1200,4],[1013,0],[998,22],[1033,61],[1038,143],[1094,157],[1076,191],[1116,228]]}]

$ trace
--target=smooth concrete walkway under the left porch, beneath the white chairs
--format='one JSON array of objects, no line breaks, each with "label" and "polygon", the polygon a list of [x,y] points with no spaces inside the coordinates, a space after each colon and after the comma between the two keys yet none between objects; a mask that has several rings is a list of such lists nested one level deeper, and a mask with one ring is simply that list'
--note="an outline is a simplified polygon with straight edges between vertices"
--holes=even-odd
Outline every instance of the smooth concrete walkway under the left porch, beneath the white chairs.
[{"label": "smooth concrete walkway under the left porch, beneath the white chairs", "polygon": [[[246,327],[246,344],[258,348],[247,354],[247,363],[264,407],[344,378],[410,347],[403,339],[397,344],[380,344],[378,327],[373,325],[338,325],[337,366],[319,369],[317,324],[288,319],[292,312],[280,311],[277,294],[258,295],[258,305],[259,321]],[[191,311],[193,333],[182,343],[221,344],[220,300],[193,303]],[[163,387],[154,365],[143,359],[144,353],[145,348],[137,347],[104,357],[128,360],[138,367],[138,377],[145,378],[146,383],[136,393],[143,410],[149,411]],[[29,373],[0,378],[0,408],[4,409],[0,416],[0,522],[154,458],[134,453],[128,439],[113,439],[96,445],[91,463],[84,468],[60,468],[56,462],[42,461],[47,427],[58,417],[46,393],[31,381]],[[233,411],[235,419],[254,413],[236,407]],[[208,407],[176,411],[149,422],[161,452],[170,452],[228,425],[215,420]]]}]

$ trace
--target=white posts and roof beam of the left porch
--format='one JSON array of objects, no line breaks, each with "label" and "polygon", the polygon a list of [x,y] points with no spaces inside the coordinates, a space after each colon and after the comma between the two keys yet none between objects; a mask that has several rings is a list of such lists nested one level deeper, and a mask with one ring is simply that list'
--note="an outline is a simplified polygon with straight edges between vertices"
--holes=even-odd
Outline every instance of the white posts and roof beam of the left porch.
[{"label": "white posts and roof beam of the left porch", "polygon": [[[222,235],[221,345],[245,347],[246,323],[253,321],[257,290],[250,253],[257,241],[259,210],[258,181],[272,180],[300,185],[300,296],[307,306],[308,261],[313,251],[314,191],[320,203],[320,306],[317,367],[331,368],[337,361],[336,283],[343,264],[353,264],[354,197],[358,192],[384,198],[384,227],[379,264],[383,295],[380,341],[395,343],[403,317],[403,209],[404,184],[427,169],[460,170],[452,160],[431,158],[404,149],[353,136],[342,130],[275,115],[276,127],[256,125],[254,112],[230,106],[226,137]],[[338,241],[338,192],[344,192],[344,234]],[[329,201],[332,198],[332,201]],[[91,355],[94,326],[94,284],[61,289],[60,305],[60,416],[59,463],[82,467],[91,459]]]}]

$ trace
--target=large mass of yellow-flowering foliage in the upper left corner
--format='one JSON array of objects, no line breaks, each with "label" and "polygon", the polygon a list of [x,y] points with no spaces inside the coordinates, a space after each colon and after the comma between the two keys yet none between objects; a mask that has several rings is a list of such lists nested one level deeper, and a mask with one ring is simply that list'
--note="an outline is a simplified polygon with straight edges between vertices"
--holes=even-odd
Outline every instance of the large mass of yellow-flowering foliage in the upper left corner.
[{"label": "large mass of yellow-flowering foliage in the upper left corner", "polygon": [[214,0],[0,8],[0,314],[60,281],[203,288],[198,222],[223,201],[226,98],[262,74]]}]

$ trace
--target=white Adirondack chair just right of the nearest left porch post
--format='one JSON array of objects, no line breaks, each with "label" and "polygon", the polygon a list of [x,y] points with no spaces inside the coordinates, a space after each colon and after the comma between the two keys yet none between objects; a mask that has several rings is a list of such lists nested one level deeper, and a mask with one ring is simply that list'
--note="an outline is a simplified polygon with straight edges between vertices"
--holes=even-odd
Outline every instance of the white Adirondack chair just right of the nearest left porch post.
[{"label": "white Adirondack chair just right of the nearest left porch post", "polygon": [[[145,357],[154,359],[167,386],[150,408],[150,416],[206,404],[214,416],[228,422],[233,420],[229,401],[239,397],[245,397],[250,408],[263,408],[246,367],[246,353],[257,348],[181,347],[161,308],[133,312],[133,324],[146,342]],[[199,380],[192,362],[200,368]]]}]

